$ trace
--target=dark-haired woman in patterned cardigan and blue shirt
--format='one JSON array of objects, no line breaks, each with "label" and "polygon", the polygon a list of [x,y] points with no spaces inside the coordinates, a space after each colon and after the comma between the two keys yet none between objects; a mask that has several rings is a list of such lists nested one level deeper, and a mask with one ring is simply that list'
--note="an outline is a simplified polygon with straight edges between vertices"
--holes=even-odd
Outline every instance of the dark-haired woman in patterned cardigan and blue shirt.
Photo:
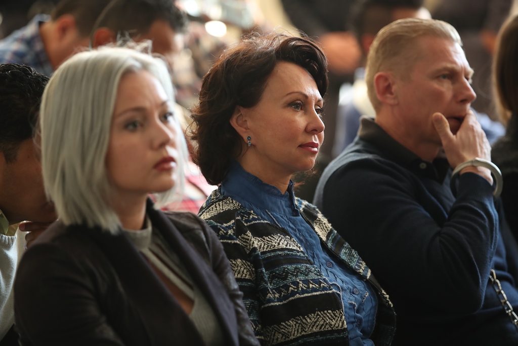
[{"label": "dark-haired woman in patterned cardigan and blue shirt", "polygon": [[392,304],[291,177],[324,139],[327,60],[308,38],[251,34],[223,52],[192,109],[195,162],[219,185],[218,234],[263,345],[389,345]]}]

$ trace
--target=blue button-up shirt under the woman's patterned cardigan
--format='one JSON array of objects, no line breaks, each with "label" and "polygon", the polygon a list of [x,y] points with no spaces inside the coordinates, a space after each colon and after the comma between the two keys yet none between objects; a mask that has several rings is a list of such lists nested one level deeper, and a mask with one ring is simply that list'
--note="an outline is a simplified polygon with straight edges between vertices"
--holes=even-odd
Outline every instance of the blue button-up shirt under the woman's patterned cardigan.
[{"label": "blue button-up shirt under the woman's patterned cardigan", "polygon": [[265,184],[244,171],[234,161],[221,184],[221,193],[290,232],[341,297],[350,345],[373,346],[368,338],[376,322],[378,300],[375,290],[320,241],[296,207],[293,186],[294,183],[290,182],[288,190],[283,194],[275,186]]}]

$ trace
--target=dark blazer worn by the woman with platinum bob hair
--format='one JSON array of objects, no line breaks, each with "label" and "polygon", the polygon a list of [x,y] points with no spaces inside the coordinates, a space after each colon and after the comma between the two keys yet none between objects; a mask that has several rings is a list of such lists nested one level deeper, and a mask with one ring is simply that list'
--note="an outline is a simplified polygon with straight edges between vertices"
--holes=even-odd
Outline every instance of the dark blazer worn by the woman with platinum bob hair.
[{"label": "dark blazer worn by the woman with platinum bob hair", "polygon": [[[258,345],[214,232],[191,213],[147,213],[219,318],[225,345]],[[174,296],[123,232],[52,225],[15,281],[22,345],[204,345]]]}]

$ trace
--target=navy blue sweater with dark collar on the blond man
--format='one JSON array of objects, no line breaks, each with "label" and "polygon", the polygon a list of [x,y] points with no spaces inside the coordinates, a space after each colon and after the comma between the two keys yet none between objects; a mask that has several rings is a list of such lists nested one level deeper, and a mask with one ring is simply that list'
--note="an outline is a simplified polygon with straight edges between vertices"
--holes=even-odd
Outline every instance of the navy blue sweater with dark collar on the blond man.
[{"label": "navy blue sweater with dark collar on the blond man", "polygon": [[518,248],[492,186],[445,159],[424,161],[376,123],[324,171],[315,203],[367,262],[394,303],[393,345],[518,345],[488,281],[494,268],[518,310]]}]

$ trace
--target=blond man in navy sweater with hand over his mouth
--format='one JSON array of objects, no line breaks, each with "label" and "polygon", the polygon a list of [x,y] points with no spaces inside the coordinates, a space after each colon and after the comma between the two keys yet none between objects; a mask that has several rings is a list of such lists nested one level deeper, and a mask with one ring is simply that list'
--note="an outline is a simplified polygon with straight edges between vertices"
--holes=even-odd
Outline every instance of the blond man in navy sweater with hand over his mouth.
[{"label": "blond man in navy sweater with hand over his mouth", "polygon": [[394,302],[395,345],[518,344],[518,247],[470,110],[472,74],[450,24],[385,26],[366,67],[376,120],[362,118],[316,191]]}]

